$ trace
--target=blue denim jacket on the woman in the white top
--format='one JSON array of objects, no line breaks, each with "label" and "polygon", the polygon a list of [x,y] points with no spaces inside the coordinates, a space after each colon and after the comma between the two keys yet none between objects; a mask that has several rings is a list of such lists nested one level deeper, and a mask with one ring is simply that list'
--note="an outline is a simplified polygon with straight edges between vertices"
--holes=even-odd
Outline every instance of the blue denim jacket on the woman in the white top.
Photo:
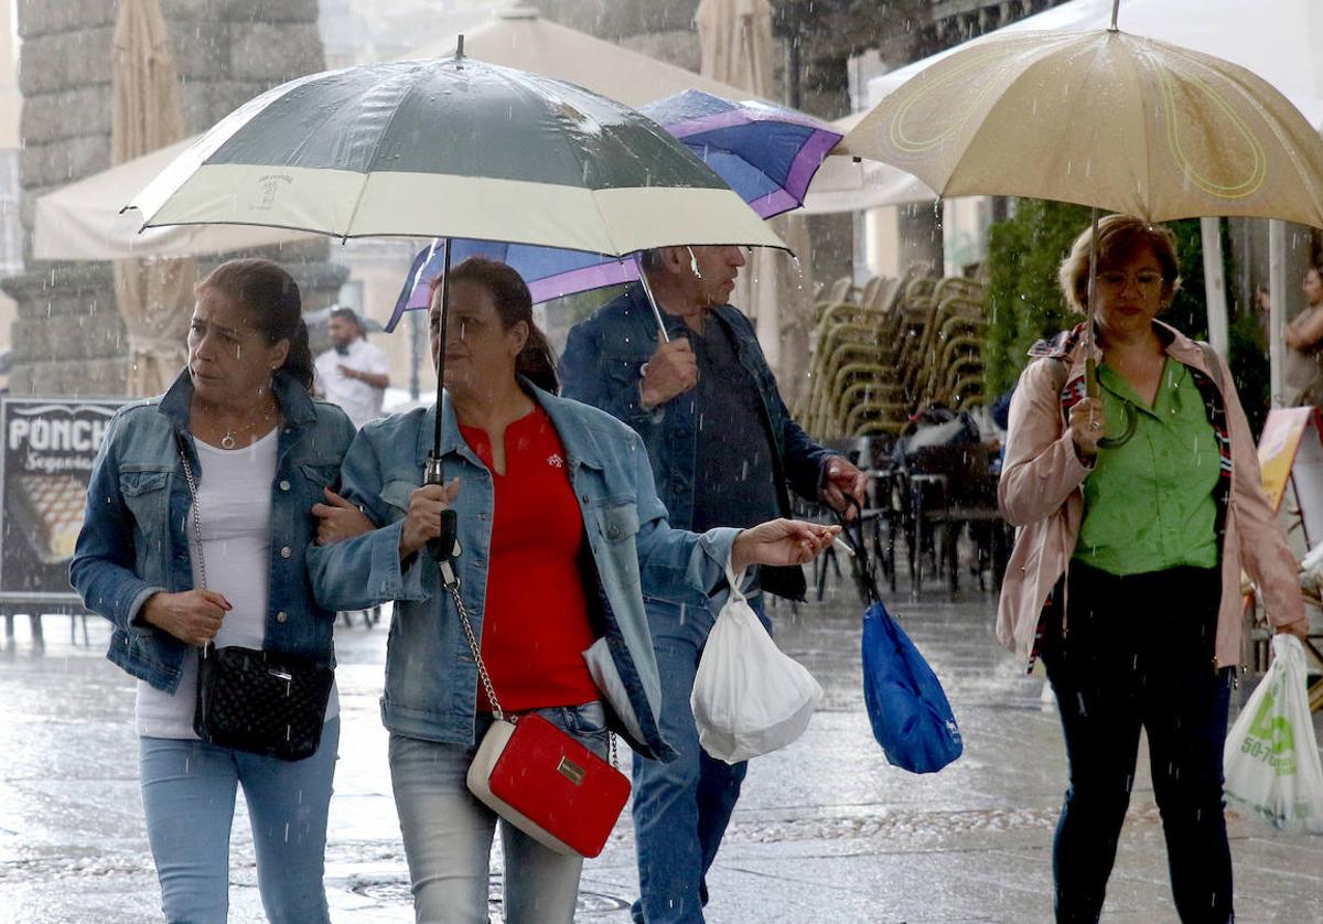
[{"label": "blue denim jacket on the woman in the white top", "polygon": [[[87,510],[69,577],[83,604],[114,625],[106,657],[138,679],[173,694],[188,646],[138,620],[157,592],[193,586],[189,556],[192,498],[180,447],[205,477],[188,408],[193,384],[183,372],[165,394],[120,408],[93,465]],[[284,422],[271,483],[271,578],[266,647],[335,663],[335,610],[316,604],[304,553],[316,537],[312,504],[335,487],[353,424],[340,408],[314,401],[279,373],[275,400]]]}]

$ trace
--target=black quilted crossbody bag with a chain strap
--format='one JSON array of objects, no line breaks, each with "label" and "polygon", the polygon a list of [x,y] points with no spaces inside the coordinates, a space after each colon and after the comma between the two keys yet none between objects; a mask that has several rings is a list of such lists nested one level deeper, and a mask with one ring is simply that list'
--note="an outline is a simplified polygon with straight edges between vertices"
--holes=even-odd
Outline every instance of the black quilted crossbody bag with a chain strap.
[{"label": "black quilted crossbody bag with a chain strap", "polygon": [[[197,483],[183,446],[180,458],[193,498],[197,571],[206,589]],[[312,658],[208,642],[197,658],[193,731],[221,748],[280,760],[311,757],[321,741],[333,680],[335,671]]]}]

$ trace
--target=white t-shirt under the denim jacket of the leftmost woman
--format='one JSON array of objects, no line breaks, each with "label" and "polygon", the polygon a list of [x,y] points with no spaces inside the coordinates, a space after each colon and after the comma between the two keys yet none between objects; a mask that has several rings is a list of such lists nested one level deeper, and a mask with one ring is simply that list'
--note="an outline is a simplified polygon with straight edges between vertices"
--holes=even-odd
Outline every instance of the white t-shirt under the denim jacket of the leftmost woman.
[{"label": "white t-shirt under the denim jacket of the leftmost woman", "polygon": [[[196,441],[202,477],[197,507],[202,520],[202,553],[197,552],[193,511],[188,515],[188,545],[193,584],[202,586],[200,564],[206,561],[206,586],[234,608],[216,634],[216,647],[238,645],[259,649],[266,638],[266,609],[271,581],[271,482],[275,481],[279,428],[245,449],[217,449]],[[197,649],[184,655],[184,674],[175,695],[138,682],[135,724],[148,737],[187,737],[193,733],[197,696]],[[335,686],[327,719],[340,711]]]}]

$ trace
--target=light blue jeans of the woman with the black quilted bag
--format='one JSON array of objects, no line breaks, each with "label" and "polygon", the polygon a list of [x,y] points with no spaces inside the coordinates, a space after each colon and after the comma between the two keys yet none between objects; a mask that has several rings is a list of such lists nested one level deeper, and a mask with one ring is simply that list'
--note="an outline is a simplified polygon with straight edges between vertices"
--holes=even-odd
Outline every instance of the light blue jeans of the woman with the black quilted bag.
[{"label": "light blue jeans of the woman with the black quilted bag", "polygon": [[243,786],[257,853],[262,907],[273,923],[329,921],[321,874],[340,717],[295,762],[187,739],[142,737],[147,839],[167,921],[225,924],[230,827]]}]

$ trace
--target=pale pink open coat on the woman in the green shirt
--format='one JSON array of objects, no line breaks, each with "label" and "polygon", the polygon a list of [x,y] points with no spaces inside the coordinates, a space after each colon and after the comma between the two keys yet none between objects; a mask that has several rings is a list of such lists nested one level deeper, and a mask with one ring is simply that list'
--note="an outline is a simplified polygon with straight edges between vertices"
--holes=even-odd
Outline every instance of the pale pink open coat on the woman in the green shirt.
[{"label": "pale pink open coat on the woman in the green shirt", "polygon": [[[1254,453],[1254,437],[1241,408],[1226,364],[1208,368],[1204,351],[1189,338],[1155,322],[1170,335],[1167,355],[1208,375],[1222,387],[1232,445],[1232,487],[1226,510],[1226,533],[1221,555],[1222,601],[1217,612],[1216,661],[1234,666],[1241,659],[1241,571],[1248,571],[1262,589],[1267,617],[1274,626],[1304,618],[1304,601],[1297,582],[1295,556],[1277,524],[1263,494]],[[1084,375],[1085,351],[1069,353],[1068,380]],[[1101,351],[1094,352],[1102,361]],[[1084,514],[1081,485],[1090,469],[1074,453],[1061,413],[1057,387],[1060,360],[1037,359],[1020,375],[1011,400],[1005,461],[998,486],[998,503],[1007,523],[1021,527],[1007,565],[998,606],[998,639],[1021,658],[1028,658],[1043,606],[1074,553]]]}]

